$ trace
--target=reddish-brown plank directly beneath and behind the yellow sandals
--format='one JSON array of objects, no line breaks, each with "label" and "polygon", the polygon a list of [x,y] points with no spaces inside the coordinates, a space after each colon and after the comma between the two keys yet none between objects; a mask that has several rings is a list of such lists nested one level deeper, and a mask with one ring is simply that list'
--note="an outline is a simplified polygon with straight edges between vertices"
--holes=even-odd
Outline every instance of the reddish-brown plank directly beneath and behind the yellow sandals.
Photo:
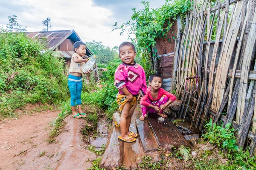
[{"label": "reddish-brown plank directly beneath and behind the yellow sandals", "polygon": [[[130,131],[137,133],[134,116],[131,118]],[[137,169],[138,163],[142,159],[140,154],[140,141],[139,137],[136,138],[136,142],[124,143],[123,165],[127,169]]]}]

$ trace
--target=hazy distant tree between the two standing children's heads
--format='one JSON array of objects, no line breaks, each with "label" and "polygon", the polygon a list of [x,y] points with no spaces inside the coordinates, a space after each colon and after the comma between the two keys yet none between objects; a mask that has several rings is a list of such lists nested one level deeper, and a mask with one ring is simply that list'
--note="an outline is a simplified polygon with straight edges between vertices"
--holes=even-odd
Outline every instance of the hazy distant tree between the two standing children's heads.
[{"label": "hazy distant tree between the two standing children's heads", "polygon": [[108,64],[118,57],[116,47],[111,49],[110,47],[103,45],[102,42],[93,40],[93,42],[86,42],[86,46],[96,55],[98,64]]}]

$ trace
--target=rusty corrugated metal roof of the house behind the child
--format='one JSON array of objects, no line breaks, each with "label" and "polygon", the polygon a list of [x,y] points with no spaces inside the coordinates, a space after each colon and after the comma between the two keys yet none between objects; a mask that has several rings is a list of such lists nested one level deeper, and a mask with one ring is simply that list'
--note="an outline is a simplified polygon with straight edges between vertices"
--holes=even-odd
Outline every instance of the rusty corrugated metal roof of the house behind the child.
[{"label": "rusty corrugated metal roof of the house behind the child", "polygon": [[[45,40],[47,38],[48,47],[50,49],[55,49],[67,38],[76,41],[81,41],[75,30],[59,30],[59,31],[36,31],[36,32],[26,32],[29,38],[38,38],[39,40]],[[86,47],[86,54],[92,55],[90,50]]]}]

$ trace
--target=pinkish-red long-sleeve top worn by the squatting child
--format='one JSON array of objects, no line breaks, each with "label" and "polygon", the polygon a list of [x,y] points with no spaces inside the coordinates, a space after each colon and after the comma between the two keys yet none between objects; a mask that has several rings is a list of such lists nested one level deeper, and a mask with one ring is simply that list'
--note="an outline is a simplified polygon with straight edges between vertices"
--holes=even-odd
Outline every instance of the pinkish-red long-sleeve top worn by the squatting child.
[{"label": "pinkish-red long-sleeve top worn by the squatting child", "polygon": [[150,91],[151,91],[151,87],[148,87],[145,96],[143,96],[140,99],[140,105],[147,107],[149,105],[149,103],[147,102],[147,99],[149,99],[150,101],[156,101],[156,100],[159,100],[163,95],[166,95],[170,100],[172,100],[172,102],[176,100],[175,95],[169,93],[168,91],[163,90],[163,88],[159,88],[157,99],[153,99]]}]

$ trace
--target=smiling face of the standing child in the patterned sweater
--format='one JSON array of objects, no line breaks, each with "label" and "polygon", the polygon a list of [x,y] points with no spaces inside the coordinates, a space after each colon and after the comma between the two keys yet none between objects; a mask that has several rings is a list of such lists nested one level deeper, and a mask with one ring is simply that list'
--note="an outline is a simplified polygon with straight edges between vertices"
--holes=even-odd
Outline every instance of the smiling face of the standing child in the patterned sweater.
[{"label": "smiling face of the standing child in the patterned sweater", "polygon": [[130,45],[124,45],[120,48],[119,58],[125,64],[134,64],[134,58],[136,57],[137,53],[134,52]]}]

